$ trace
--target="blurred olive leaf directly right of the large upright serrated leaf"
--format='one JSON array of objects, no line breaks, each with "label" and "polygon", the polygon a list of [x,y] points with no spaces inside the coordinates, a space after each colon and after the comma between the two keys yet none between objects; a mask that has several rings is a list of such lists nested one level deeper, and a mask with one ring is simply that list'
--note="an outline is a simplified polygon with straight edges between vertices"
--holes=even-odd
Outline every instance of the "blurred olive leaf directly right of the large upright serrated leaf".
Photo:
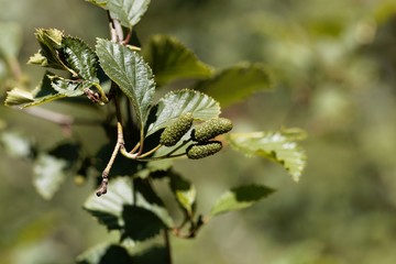
[{"label": "blurred olive leaf directly right of the large upright serrated leaf", "polygon": [[144,51],[144,58],[152,67],[158,85],[177,79],[208,78],[213,72],[185,45],[167,35],[153,36]]}]

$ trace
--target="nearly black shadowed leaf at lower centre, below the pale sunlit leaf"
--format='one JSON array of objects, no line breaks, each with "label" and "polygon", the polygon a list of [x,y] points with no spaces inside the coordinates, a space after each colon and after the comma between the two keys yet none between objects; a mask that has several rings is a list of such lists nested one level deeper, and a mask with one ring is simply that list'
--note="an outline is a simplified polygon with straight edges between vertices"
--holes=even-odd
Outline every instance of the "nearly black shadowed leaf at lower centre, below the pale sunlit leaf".
[{"label": "nearly black shadowed leaf at lower centre, below the pale sunlit leaf", "polygon": [[122,219],[125,223],[121,240],[144,241],[157,235],[165,227],[152,211],[136,206],[124,206]]}]

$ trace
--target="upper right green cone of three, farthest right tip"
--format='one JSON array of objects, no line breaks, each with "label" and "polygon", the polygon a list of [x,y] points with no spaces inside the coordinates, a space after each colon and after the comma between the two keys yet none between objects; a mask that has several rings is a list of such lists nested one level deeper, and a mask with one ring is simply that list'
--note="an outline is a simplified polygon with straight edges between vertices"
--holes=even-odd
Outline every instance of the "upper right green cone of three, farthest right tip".
[{"label": "upper right green cone of three, farthest right tip", "polygon": [[224,118],[210,119],[195,128],[191,138],[197,142],[206,142],[217,135],[224,134],[232,130],[232,122]]}]

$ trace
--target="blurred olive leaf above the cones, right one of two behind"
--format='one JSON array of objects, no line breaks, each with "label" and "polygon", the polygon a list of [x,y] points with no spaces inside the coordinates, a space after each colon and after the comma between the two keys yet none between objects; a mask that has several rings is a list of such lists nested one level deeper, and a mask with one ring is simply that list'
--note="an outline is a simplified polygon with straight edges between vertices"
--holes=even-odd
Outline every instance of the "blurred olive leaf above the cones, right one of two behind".
[{"label": "blurred olive leaf above the cones, right one of two behind", "polygon": [[260,64],[245,64],[223,69],[212,78],[197,82],[194,87],[213,97],[221,107],[240,102],[254,92],[271,88],[271,75]]}]

